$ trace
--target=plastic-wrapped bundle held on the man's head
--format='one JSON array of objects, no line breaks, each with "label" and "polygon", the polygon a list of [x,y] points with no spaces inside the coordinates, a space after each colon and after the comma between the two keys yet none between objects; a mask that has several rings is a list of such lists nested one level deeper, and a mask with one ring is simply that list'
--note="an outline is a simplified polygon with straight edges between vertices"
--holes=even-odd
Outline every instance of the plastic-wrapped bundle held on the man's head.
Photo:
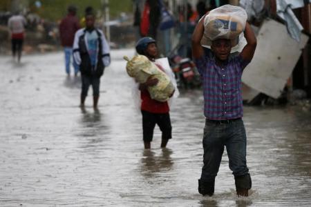
[{"label": "plastic-wrapped bundle held on the man's head", "polygon": [[224,5],[211,10],[204,19],[202,46],[211,46],[215,39],[230,39],[232,47],[238,44],[239,35],[247,21],[246,11],[239,6]]}]

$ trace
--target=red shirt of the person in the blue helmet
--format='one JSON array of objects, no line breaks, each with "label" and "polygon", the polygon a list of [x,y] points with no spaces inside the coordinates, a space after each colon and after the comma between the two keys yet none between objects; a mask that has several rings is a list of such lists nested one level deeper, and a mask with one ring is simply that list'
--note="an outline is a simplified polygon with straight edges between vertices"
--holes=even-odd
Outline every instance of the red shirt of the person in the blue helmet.
[{"label": "red shirt of the person in the blue helmet", "polygon": [[[164,71],[161,66],[157,65],[160,70]],[[148,90],[143,90],[140,92],[140,99],[142,99],[141,110],[152,113],[167,113],[169,112],[169,104],[167,101],[160,102],[154,99],[151,99]]]}]

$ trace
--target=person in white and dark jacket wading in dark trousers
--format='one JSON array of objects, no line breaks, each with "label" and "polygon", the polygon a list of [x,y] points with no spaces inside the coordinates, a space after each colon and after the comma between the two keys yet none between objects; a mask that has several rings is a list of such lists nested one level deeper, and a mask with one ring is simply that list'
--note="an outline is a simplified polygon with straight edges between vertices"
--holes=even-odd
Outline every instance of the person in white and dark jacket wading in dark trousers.
[{"label": "person in white and dark jacket wading in dark trousers", "polygon": [[84,107],[88,88],[92,85],[93,107],[97,109],[100,98],[100,77],[104,74],[104,68],[110,64],[110,48],[104,33],[94,26],[95,15],[93,12],[86,12],[85,19],[86,28],[75,33],[73,57],[79,64],[82,78],[80,106]]}]

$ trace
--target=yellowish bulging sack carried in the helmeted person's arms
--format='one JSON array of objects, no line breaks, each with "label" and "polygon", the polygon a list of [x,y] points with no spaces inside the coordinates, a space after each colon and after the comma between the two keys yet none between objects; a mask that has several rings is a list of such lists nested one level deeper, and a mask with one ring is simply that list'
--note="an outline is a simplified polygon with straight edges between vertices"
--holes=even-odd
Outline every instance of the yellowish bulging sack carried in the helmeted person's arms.
[{"label": "yellowish bulging sack carried in the helmeted person's arms", "polygon": [[151,99],[157,101],[167,101],[175,90],[169,77],[160,70],[154,63],[149,61],[144,55],[135,55],[133,59],[124,56],[126,63],[126,72],[138,83],[145,83],[149,78],[158,79],[156,86],[149,86],[147,90]]}]

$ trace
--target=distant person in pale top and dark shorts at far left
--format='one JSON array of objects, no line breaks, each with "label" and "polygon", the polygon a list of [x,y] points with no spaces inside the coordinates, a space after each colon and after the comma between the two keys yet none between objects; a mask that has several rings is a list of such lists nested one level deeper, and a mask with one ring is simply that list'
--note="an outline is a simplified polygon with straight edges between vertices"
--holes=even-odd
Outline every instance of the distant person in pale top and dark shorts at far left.
[{"label": "distant person in pale top and dark shorts at far left", "polygon": [[8,28],[11,32],[12,55],[15,59],[17,53],[17,61],[21,61],[21,50],[23,48],[23,39],[25,36],[26,19],[18,12],[8,20]]}]

